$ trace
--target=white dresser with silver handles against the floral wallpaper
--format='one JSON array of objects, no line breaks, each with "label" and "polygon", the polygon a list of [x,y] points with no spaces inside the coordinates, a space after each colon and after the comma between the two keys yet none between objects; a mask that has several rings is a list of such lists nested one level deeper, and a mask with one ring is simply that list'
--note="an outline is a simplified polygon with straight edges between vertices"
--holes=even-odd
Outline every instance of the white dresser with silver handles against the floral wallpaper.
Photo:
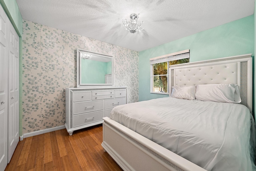
[{"label": "white dresser with silver handles against the floral wallpaper", "polygon": [[112,109],[127,103],[127,87],[66,88],[66,129],[73,131],[103,123]]}]

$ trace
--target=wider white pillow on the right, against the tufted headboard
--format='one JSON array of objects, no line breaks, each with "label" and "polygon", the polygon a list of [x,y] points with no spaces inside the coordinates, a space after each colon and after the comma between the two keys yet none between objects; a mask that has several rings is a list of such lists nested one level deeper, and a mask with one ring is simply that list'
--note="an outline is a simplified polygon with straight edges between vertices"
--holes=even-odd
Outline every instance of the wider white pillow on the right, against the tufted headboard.
[{"label": "wider white pillow on the right, against the tufted headboard", "polygon": [[196,99],[224,103],[240,103],[241,97],[236,84],[196,85]]}]

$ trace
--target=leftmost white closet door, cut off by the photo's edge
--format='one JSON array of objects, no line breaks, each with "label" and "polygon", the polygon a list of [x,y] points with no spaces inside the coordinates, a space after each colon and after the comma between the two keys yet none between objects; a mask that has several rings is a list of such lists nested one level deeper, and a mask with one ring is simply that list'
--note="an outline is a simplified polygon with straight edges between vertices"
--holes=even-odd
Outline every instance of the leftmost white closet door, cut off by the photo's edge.
[{"label": "leftmost white closet door, cut off by the photo's edge", "polygon": [[7,165],[8,132],[8,20],[0,6],[0,170]]}]

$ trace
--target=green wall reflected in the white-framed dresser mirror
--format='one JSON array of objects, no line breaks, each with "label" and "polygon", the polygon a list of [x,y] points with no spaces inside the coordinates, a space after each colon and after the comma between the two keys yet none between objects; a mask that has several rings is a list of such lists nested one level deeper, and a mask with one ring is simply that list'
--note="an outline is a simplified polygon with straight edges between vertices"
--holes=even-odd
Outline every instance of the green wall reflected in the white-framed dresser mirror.
[{"label": "green wall reflected in the white-framed dresser mirror", "polygon": [[82,84],[105,84],[108,62],[94,60],[81,60],[81,83]]}]

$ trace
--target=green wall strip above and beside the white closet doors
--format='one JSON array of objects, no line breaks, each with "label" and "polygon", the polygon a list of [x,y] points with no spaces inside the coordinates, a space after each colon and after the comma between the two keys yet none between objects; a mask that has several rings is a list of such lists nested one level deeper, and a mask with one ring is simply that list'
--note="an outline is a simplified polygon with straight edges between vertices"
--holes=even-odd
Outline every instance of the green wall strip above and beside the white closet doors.
[{"label": "green wall strip above and beside the white closet doors", "polygon": [[16,0],[0,0],[12,26],[20,37],[20,136],[22,136],[22,16]]}]

